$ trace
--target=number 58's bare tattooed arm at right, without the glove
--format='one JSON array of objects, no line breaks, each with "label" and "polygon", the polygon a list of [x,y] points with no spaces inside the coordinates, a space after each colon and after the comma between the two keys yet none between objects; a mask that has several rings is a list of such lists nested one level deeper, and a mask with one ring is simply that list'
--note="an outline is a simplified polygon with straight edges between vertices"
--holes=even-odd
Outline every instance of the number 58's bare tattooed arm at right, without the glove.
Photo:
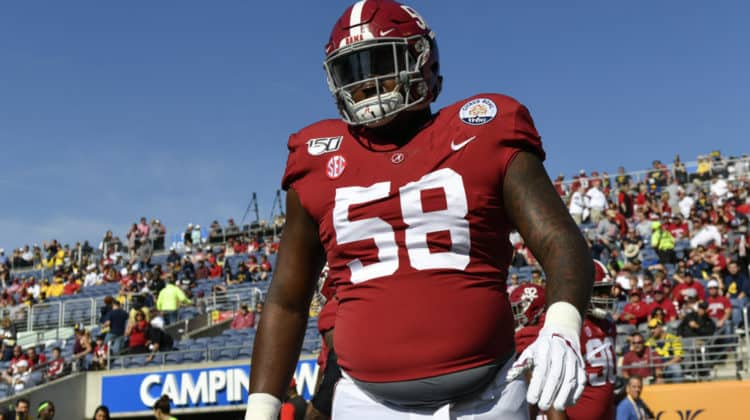
[{"label": "number 58's bare tattooed arm at right, without the glove", "polygon": [[519,152],[503,182],[505,212],[541,262],[548,306],[568,302],[585,313],[594,283],[586,240],[534,154]]}]

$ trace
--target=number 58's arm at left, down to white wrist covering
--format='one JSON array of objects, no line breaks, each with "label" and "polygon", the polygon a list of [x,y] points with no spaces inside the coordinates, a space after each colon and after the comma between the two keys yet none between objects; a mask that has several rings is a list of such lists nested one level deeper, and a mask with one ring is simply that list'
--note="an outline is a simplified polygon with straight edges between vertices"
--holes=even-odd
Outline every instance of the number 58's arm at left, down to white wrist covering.
[{"label": "number 58's arm at left, down to white wrist covering", "polygon": [[[289,189],[273,281],[253,347],[246,419],[275,419],[299,358],[308,309],[325,262],[318,226]],[[270,394],[270,395],[269,395]]]}]

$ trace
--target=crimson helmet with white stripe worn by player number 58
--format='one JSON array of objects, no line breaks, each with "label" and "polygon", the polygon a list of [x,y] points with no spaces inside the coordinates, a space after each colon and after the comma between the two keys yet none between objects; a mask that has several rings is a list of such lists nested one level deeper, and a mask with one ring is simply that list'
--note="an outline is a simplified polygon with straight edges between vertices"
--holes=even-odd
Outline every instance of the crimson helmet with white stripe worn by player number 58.
[{"label": "crimson helmet with white stripe worn by player number 58", "polygon": [[414,9],[392,0],[360,0],[331,31],[324,63],[342,118],[375,127],[440,93],[435,33]]}]

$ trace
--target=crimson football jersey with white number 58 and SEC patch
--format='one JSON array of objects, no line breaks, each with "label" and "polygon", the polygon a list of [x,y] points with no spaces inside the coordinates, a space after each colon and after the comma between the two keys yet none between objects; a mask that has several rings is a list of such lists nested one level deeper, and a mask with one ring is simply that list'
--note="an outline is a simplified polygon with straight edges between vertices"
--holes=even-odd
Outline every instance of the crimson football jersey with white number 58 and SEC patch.
[{"label": "crimson football jersey with white number 58 and SEC patch", "polygon": [[443,108],[400,147],[362,133],[325,120],[293,134],[282,181],[319,225],[341,367],[403,381],[512,351],[502,186],[519,150],[544,158],[529,112],[482,94]]}]

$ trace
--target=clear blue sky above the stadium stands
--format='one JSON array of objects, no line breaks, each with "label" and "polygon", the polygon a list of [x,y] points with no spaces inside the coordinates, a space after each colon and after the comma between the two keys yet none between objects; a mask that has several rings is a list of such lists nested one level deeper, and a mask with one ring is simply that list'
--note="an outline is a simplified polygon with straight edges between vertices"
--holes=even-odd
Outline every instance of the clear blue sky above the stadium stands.
[{"label": "clear blue sky above the stadium stands", "polygon": [[[750,152],[747,2],[426,1],[441,107],[532,112],[552,175]],[[563,4],[564,3],[564,4]],[[0,6],[0,246],[268,218],[290,132],[335,117],[323,45],[346,1]]]}]

